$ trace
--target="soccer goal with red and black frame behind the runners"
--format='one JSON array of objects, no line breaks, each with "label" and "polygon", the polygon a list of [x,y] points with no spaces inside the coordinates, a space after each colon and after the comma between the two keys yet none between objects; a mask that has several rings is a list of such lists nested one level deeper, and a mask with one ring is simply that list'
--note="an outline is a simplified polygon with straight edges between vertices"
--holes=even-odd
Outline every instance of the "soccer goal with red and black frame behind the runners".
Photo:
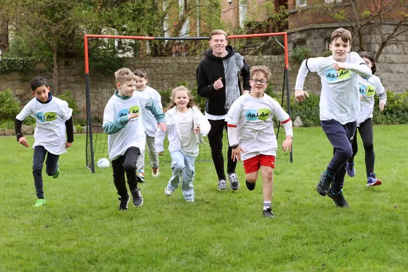
[{"label": "soccer goal with red and black frame behind the runners", "polygon": [[[203,53],[209,48],[209,37],[85,35],[86,166],[92,173],[95,173],[95,162],[102,157],[108,157],[107,134],[102,129],[103,111],[116,89],[113,72],[109,75],[101,75],[92,68],[92,56],[94,54],[92,50],[89,50],[89,42],[98,39],[113,40],[115,45],[130,44],[128,48],[130,47],[132,50],[121,52],[121,61],[124,61],[124,67],[131,71],[143,68],[147,72],[148,85],[161,94],[163,107],[166,107],[169,102],[170,91],[179,85],[184,85],[190,89],[194,100],[201,105],[203,104],[205,99],[200,97],[196,91],[195,71],[199,61],[204,57]],[[265,93],[278,100],[290,114],[287,33],[228,36],[228,44],[245,58],[250,67],[265,65],[270,69],[271,78]],[[242,84],[242,79],[240,82]],[[243,89],[241,88],[241,90]],[[204,108],[201,110],[203,111]],[[285,140],[285,132],[279,120],[275,120],[274,127],[278,140],[277,159],[292,162],[292,152],[283,152],[279,148]],[[224,158],[226,159],[228,142],[225,133],[223,140]],[[200,145],[200,154],[195,161],[212,161],[207,137],[205,137],[205,141],[207,144]],[[166,142],[165,152],[159,159],[160,163],[171,161]],[[149,155],[146,154],[145,160],[146,164],[150,164]]]}]

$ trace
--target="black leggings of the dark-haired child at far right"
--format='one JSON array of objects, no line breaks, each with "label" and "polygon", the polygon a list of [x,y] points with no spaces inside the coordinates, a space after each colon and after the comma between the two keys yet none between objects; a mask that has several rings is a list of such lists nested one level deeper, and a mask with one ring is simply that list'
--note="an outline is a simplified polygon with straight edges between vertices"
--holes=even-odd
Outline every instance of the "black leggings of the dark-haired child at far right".
[{"label": "black leggings of the dark-haired child at far right", "polygon": [[[374,143],[373,143],[373,122],[371,118],[361,123],[360,127],[358,127],[357,129],[359,130],[361,139],[363,140],[364,151],[366,152],[365,161],[366,161],[366,171],[367,171],[367,177],[368,177],[370,173],[374,173],[374,161],[375,161]],[[357,151],[358,151],[357,129],[356,129],[356,133],[354,134],[354,139],[352,142],[353,156],[349,159],[349,163],[354,162],[354,156],[357,154]]]}]

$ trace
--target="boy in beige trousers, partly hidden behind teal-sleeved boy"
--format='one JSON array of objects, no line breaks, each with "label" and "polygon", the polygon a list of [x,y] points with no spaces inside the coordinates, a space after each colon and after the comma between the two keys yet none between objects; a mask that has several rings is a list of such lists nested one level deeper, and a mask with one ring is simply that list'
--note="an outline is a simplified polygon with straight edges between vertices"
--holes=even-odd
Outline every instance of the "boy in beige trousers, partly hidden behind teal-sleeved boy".
[{"label": "boy in beige trousers, partly hidden behind teal-sleeved boy", "polygon": [[[134,70],[133,74],[136,76],[136,90],[143,96],[152,99],[158,108],[162,110],[162,98],[158,91],[147,86],[147,73],[143,69]],[[143,127],[145,128],[146,146],[148,149],[150,163],[152,165],[152,177],[159,177],[159,155],[155,150],[155,134],[157,130],[157,122],[150,111],[143,109],[142,115]],[[137,162],[138,178],[141,182],[145,181],[145,151],[141,150],[141,154]]]}]

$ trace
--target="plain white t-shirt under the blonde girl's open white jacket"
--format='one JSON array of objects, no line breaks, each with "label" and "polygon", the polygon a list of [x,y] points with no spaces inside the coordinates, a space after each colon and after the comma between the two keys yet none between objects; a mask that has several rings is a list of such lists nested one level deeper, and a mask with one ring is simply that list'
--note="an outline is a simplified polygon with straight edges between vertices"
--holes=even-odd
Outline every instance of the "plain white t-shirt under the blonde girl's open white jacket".
[{"label": "plain white t-shirt under the blonde girl's open white jacket", "polygon": [[198,155],[197,139],[193,130],[193,116],[191,111],[174,114],[177,135],[180,140],[181,151],[189,156]]}]

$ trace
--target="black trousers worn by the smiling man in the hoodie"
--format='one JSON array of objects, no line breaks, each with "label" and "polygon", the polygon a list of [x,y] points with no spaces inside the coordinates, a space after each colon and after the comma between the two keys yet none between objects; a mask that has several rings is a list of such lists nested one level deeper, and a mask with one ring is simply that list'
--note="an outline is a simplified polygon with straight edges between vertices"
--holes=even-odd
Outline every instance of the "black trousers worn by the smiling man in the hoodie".
[{"label": "black trousers worn by the smiling man in the hoodie", "polygon": [[[208,141],[211,147],[211,156],[213,157],[214,166],[216,168],[217,176],[219,180],[225,180],[224,172],[224,156],[223,156],[223,136],[224,128],[227,130],[227,122],[222,120],[208,120],[211,124],[211,130],[209,132]],[[228,137],[227,137],[228,138]],[[237,161],[231,159],[232,149],[228,145],[227,152],[227,174],[235,172]]]}]

